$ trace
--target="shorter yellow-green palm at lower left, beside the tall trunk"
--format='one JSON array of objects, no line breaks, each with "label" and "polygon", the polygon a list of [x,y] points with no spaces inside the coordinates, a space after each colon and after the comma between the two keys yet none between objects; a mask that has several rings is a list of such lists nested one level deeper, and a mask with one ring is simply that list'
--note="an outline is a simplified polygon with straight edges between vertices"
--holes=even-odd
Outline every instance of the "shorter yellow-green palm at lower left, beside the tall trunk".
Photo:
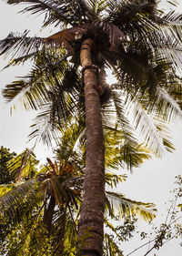
[{"label": "shorter yellow-green palm at lower left, beside the tall trunk", "polygon": [[11,171],[18,163],[24,165],[21,175],[16,174],[16,183],[1,187],[1,222],[10,225],[4,248],[9,247],[8,255],[42,255],[44,251],[62,255],[65,234],[76,234],[74,209],[78,209],[83,178],[67,159],[52,162],[47,158],[48,164],[25,180],[24,170],[30,162],[26,159],[25,163],[25,153],[9,163]]}]

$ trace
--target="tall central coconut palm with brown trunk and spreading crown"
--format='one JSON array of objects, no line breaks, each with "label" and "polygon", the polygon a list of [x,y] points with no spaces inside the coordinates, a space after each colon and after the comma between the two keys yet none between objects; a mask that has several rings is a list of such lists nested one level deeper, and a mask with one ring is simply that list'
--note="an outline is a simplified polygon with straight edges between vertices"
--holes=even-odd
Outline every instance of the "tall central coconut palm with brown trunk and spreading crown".
[{"label": "tall central coconut palm with brown trunk and spreading crown", "polygon": [[[8,1],[9,4],[20,2]],[[13,99],[23,92],[26,108],[38,108],[47,100],[54,100],[51,118],[59,118],[60,124],[70,113],[75,114],[77,101],[84,101],[86,175],[78,238],[85,242],[79,248],[82,255],[102,255],[105,210],[103,125],[106,124],[102,123],[100,104],[106,103],[111,95],[111,107],[116,110],[115,117],[119,128],[123,129],[126,145],[133,142],[133,137],[128,129],[125,132],[127,127],[122,114],[123,110],[130,114],[134,108],[136,128],[144,134],[147,145],[158,155],[165,150],[164,146],[170,146],[167,138],[157,136],[162,130],[161,123],[154,125],[148,112],[155,114],[155,122],[156,118],[170,118],[172,112],[181,115],[174,100],[181,100],[180,78],[174,75],[175,69],[181,68],[181,15],[159,12],[155,0],[67,0],[64,3],[29,0],[28,3],[25,12],[46,12],[44,26],[59,26],[61,31],[44,39],[30,38],[27,32],[22,36],[11,34],[1,42],[2,54],[15,52],[12,64],[35,59],[35,67],[26,80],[7,85],[4,95]],[[47,51],[46,45],[53,48]],[[44,57],[40,58],[42,54]],[[118,81],[112,92],[106,86],[106,67],[113,70]],[[127,108],[122,111],[117,104],[118,92],[126,100]],[[87,230],[89,236],[84,235]]]}]

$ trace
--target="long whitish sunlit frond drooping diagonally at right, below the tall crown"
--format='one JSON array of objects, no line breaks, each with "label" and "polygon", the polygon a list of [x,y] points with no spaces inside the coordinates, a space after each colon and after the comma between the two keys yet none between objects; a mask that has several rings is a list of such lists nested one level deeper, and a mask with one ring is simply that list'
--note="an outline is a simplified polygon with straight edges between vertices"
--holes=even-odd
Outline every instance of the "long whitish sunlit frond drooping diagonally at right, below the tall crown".
[{"label": "long whitish sunlit frond drooping diagonally at right, below the tall crown", "polygon": [[[168,86],[167,86],[167,88],[168,88]],[[168,122],[171,120],[171,118],[175,118],[176,116],[181,117],[181,110],[180,110],[179,106],[177,105],[177,101],[175,101],[173,99],[173,97],[171,97],[167,93],[167,90],[165,90],[162,87],[157,88],[157,92],[152,97],[152,99],[150,97],[148,97],[147,94],[142,95],[140,93],[138,93],[136,95],[136,98],[137,98],[136,99],[136,102],[137,102],[136,105],[139,104],[140,105],[139,108],[141,108],[141,112],[145,111],[147,113],[147,118],[150,119],[150,121],[148,121],[148,124],[147,124],[147,121],[146,121],[146,124],[143,125],[142,122],[144,120],[142,121],[142,119],[141,120],[139,119],[139,116],[137,117],[137,115],[138,115],[137,107],[133,106],[132,109],[134,109],[134,112],[133,112],[134,116],[132,117],[132,115],[131,115],[130,117],[134,118],[134,124],[136,125],[136,128],[138,128],[138,131],[140,131],[140,128],[142,128],[143,135],[147,135],[147,132],[148,132],[148,134],[150,132],[152,132],[152,127],[154,128],[154,130],[156,130],[155,134],[156,134],[156,136],[158,136],[157,139],[159,139],[159,141],[158,141],[159,144],[163,143],[163,145],[164,145],[163,150],[160,150],[159,154],[156,151],[157,156],[160,156],[160,154],[162,154],[162,152],[164,153],[166,149],[167,149],[167,151],[172,152],[175,148],[174,148],[173,143],[171,141],[170,130],[167,129],[167,125],[168,125]],[[143,108],[143,110],[142,110],[142,108]],[[131,110],[131,109],[129,108],[128,110]],[[135,116],[135,113],[136,113],[136,116]],[[136,119],[138,118],[137,119],[138,124],[136,123],[135,118]],[[143,115],[143,118],[145,118],[145,115]],[[140,121],[141,121],[141,123],[140,123]],[[151,129],[150,131],[148,130],[148,128],[149,128],[148,125],[149,124],[152,125],[151,128],[150,128]],[[142,137],[141,137],[141,139],[143,141]],[[157,147],[157,141],[155,142],[155,140],[154,140],[153,142],[156,143],[155,147]],[[152,144],[150,144],[149,141],[146,140],[145,143],[148,143],[147,145],[148,146],[150,145],[149,147],[152,147],[151,148],[152,150],[155,149],[155,148],[153,148]]]}]

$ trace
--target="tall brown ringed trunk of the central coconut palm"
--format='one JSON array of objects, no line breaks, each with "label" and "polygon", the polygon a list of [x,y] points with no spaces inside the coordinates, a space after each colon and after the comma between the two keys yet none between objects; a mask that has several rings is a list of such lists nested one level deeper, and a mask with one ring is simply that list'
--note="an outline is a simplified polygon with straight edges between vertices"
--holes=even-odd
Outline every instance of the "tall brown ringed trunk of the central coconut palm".
[{"label": "tall brown ringed trunk of the central coconut palm", "polygon": [[[80,60],[82,67],[92,66],[91,50],[94,41],[83,42]],[[83,201],[78,224],[81,255],[103,255],[105,210],[105,143],[96,70],[86,68],[84,74],[86,103],[86,174]]]}]

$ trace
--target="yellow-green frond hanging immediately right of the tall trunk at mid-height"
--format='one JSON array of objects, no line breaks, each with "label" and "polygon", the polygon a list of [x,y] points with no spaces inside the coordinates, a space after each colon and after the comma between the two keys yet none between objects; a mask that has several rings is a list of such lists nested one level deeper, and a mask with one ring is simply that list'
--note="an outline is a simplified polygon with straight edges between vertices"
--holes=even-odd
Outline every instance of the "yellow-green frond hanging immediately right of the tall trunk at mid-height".
[{"label": "yellow-green frond hanging immediately right of the tall trunk at mid-height", "polygon": [[127,118],[125,97],[124,92],[113,89],[111,103],[102,108],[106,169],[132,169],[150,159],[149,150],[138,143],[135,128]]}]

